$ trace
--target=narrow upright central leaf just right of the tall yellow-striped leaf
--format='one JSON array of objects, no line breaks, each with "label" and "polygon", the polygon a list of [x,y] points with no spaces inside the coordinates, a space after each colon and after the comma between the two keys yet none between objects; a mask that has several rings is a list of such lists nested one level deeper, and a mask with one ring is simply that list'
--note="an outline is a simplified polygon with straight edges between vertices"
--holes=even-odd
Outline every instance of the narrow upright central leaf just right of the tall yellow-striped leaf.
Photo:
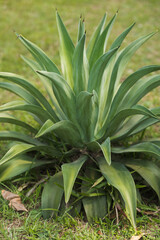
[{"label": "narrow upright central leaf just right of the tall yellow-striped leaf", "polygon": [[87,82],[84,68],[84,46],[86,36],[79,40],[74,54],[73,54],[73,79],[74,79],[74,92],[79,94],[81,91],[86,90]]}]

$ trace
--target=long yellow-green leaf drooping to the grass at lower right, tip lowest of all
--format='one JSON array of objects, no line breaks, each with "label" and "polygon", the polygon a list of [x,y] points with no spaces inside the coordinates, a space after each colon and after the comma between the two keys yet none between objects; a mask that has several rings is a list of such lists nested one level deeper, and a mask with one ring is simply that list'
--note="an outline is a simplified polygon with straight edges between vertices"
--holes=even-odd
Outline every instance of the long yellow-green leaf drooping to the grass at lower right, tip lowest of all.
[{"label": "long yellow-green leaf drooping to the grass at lower right, tip lowest of all", "polygon": [[136,187],[134,180],[127,168],[119,163],[113,162],[109,166],[104,158],[99,159],[99,167],[103,176],[115,188],[118,189],[125,202],[129,219],[136,227]]}]

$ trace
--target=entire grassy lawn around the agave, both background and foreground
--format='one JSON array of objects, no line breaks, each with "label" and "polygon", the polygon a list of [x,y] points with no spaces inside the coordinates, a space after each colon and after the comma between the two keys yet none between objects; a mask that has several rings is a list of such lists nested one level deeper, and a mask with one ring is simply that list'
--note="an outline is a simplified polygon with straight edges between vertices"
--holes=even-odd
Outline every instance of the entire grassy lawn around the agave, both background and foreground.
[{"label": "entire grassy lawn around the agave, both background and foreground", "polygon": [[[25,65],[21,55],[29,56],[26,49],[17,39],[15,32],[35,42],[59,66],[59,39],[55,20],[55,9],[58,9],[73,39],[76,41],[77,23],[79,16],[85,19],[87,39],[91,36],[94,26],[97,25],[104,12],[110,19],[117,10],[118,20],[115,22],[109,44],[126,27],[136,22],[134,29],[127,36],[124,45],[139,36],[156,31],[159,26],[159,0],[0,0],[0,71],[13,72],[30,79],[40,89],[38,78]],[[160,29],[159,29],[160,30]],[[160,64],[160,33],[153,36],[149,42],[132,58],[124,77],[136,69],[150,64]],[[16,99],[13,94],[0,89],[0,105],[9,99]],[[144,98],[144,105],[151,108],[159,106],[160,88]],[[17,113],[19,114],[19,113]],[[26,118],[26,116],[21,116]],[[0,125],[3,130],[4,125]],[[7,128],[11,128],[7,125]],[[12,127],[13,129],[13,127]],[[160,137],[160,125],[149,128],[145,137]],[[5,144],[0,144],[0,156],[5,151]],[[120,216],[116,225],[116,217],[104,222],[95,220],[89,225],[82,216],[73,219],[67,213],[56,220],[44,221],[41,218],[40,193],[43,183],[40,184],[30,197],[26,197],[29,189],[44,176],[37,176],[33,171],[15,181],[0,185],[15,193],[19,193],[28,213],[17,213],[8,207],[8,203],[0,197],[0,239],[130,239],[133,235],[145,233],[142,239],[160,239],[159,208],[157,199],[149,201],[146,197],[145,205],[137,217],[137,232],[129,222]],[[29,182],[28,187],[19,191],[18,187]],[[156,212],[156,213],[155,213]]]}]

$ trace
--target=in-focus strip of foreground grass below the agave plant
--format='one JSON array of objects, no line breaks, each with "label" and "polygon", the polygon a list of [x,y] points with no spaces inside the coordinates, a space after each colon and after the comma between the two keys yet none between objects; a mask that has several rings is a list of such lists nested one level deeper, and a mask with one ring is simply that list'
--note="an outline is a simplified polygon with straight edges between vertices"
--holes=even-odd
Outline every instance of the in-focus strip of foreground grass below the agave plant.
[{"label": "in-focus strip of foreground grass below the agave plant", "polygon": [[[35,174],[35,173],[34,173]],[[35,182],[33,181],[33,178]],[[18,179],[17,179],[18,180]],[[35,175],[28,175],[23,179],[16,179],[7,183],[9,191],[19,194],[23,203],[28,209],[26,212],[16,212],[8,207],[8,202],[0,197],[0,239],[20,240],[20,239],[130,239],[134,235],[144,233],[143,240],[160,239],[160,220],[158,207],[152,201],[150,207],[141,205],[141,213],[137,216],[137,231],[130,226],[127,219],[119,214],[119,224],[116,224],[114,211],[111,218],[95,220],[89,224],[85,218],[72,218],[67,212],[56,219],[44,220],[41,217],[40,194],[43,184],[39,185],[30,197],[26,197],[27,192],[38,181]],[[30,185],[23,191],[18,191],[18,187],[25,182]],[[4,186],[0,185],[0,189]]]}]

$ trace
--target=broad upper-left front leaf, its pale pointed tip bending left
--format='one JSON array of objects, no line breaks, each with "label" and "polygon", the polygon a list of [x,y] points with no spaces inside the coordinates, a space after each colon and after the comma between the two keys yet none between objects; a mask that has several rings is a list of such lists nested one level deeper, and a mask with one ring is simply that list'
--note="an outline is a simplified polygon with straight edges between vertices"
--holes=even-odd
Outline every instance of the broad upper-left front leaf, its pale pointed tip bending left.
[{"label": "broad upper-left front leaf, its pale pointed tip bending left", "polygon": [[76,98],[68,83],[63,79],[62,76],[56,73],[44,71],[38,71],[38,73],[52,81],[53,91],[61,109],[69,120],[77,122]]}]

